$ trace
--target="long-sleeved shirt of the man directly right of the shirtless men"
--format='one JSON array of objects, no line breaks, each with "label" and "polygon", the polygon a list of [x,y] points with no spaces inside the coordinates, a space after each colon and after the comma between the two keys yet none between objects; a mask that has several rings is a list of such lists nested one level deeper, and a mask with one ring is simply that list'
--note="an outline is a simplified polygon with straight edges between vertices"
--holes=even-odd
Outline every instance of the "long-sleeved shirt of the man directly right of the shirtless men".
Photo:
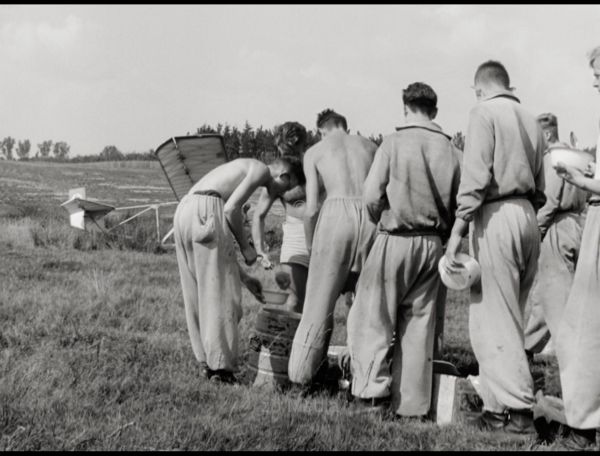
[{"label": "long-sleeved shirt of the man directly right of the shirtless men", "polygon": [[388,233],[449,234],[460,182],[460,151],[439,125],[415,122],[386,136],[375,153],[363,199]]}]

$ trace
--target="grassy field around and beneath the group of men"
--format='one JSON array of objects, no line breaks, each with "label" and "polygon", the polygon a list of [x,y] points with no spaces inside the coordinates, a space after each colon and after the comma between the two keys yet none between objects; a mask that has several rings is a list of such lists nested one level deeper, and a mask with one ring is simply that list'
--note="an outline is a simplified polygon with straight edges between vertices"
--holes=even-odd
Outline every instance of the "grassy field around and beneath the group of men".
[{"label": "grassy field around and beneath the group of men", "polygon": [[[68,189],[172,201],[156,167],[0,165],[0,450],[519,450],[529,440],[357,416],[344,393],[202,381],[173,252],[107,248],[69,227]],[[166,217],[168,218],[168,217]],[[267,220],[276,244],[278,216]],[[166,220],[166,225],[169,225]],[[165,226],[165,230],[169,226]],[[144,250],[143,248],[141,250]],[[276,256],[276,255],[275,255]],[[246,268],[266,288],[273,274]],[[443,358],[476,373],[468,296],[449,293]],[[260,304],[243,291],[242,361]],[[345,344],[338,304],[333,344]],[[556,394],[556,365],[536,364]],[[248,378],[242,362],[240,378]]]}]

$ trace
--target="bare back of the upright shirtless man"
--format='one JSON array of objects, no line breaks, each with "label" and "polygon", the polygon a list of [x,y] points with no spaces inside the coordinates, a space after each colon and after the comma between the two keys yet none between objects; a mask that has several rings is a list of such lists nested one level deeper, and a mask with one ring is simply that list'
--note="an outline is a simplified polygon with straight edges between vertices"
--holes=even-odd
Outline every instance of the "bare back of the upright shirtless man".
[{"label": "bare back of the upright shirtless man", "polygon": [[307,154],[321,177],[327,198],[362,196],[377,145],[358,135],[332,132]]}]

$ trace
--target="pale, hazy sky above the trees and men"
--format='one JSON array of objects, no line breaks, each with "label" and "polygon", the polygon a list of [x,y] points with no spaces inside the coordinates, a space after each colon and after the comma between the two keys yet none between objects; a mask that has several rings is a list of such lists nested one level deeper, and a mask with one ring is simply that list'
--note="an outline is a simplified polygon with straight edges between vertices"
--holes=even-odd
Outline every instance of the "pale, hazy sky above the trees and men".
[{"label": "pale, hazy sky above the trees and men", "polygon": [[204,123],[314,129],[325,108],[386,135],[417,81],[452,135],[494,59],[530,112],[592,146],[599,23],[599,5],[0,5],[0,138],[145,152]]}]

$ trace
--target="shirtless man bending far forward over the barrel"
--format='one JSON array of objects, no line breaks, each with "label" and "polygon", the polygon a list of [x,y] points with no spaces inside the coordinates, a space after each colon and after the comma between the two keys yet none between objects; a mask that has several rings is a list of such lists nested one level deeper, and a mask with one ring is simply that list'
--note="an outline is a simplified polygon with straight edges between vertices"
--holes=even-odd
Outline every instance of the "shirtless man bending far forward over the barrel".
[{"label": "shirtless man bending far forward over the barrel", "polygon": [[236,261],[233,237],[246,264],[257,257],[244,230],[243,204],[258,187],[279,195],[296,186],[300,166],[291,159],[267,166],[239,158],[206,174],[177,206],[173,227],[186,321],[194,355],[207,378],[235,380],[241,283],[262,297],[260,283]]}]

